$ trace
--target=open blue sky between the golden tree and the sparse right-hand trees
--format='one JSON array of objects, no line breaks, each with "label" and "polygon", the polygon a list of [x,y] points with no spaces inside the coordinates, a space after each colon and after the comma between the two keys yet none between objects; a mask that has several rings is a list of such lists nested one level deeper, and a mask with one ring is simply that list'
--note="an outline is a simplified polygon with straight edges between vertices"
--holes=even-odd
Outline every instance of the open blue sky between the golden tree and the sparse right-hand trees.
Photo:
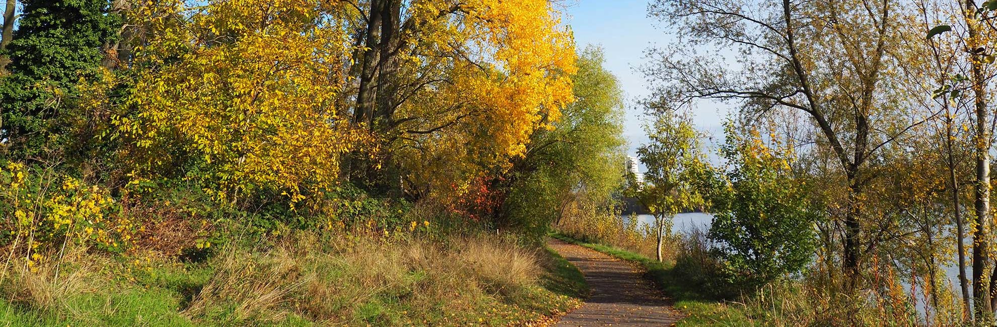
[{"label": "open blue sky between the golden tree and the sparse right-hand trees", "polygon": [[[630,155],[647,138],[641,129],[641,110],[636,101],[650,94],[644,77],[636,68],[645,62],[644,51],[673,40],[667,26],[647,17],[648,0],[569,0],[564,22],[574,31],[578,49],[596,45],[605,51],[605,67],[620,81],[626,93],[625,136]],[[723,140],[723,106],[704,104],[694,108],[697,128]]]}]

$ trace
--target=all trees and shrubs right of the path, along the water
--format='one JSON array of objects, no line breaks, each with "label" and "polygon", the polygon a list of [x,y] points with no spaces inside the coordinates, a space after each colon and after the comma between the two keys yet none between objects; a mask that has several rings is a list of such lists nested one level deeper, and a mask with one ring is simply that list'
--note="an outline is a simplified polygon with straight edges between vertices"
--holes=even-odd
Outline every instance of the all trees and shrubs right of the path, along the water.
[{"label": "all trees and shrubs right of the path, along the water", "polygon": [[[642,69],[654,93],[639,155],[666,178],[631,187],[679,187],[654,198],[714,213],[705,235],[652,232],[662,260],[763,325],[991,325],[994,8],[651,1],[674,40]],[[719,151],[657,137],[711,106],[730,109]],[[655,172],[674,168],[684,176]],[[653,253],[620,220],[562,221]]]}]

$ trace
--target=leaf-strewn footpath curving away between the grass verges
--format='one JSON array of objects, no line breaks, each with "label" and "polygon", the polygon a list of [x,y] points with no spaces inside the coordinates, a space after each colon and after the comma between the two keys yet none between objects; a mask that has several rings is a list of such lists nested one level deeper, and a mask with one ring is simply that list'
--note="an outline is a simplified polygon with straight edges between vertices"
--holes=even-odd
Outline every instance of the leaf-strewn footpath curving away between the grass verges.
[{"label": "leaf-strewn footpath curving away between the grass verges", "polygon": [[557,239],[548,244],[581,270],[592,292],[556,326],[671,326],[682,318],[636,264]]}]

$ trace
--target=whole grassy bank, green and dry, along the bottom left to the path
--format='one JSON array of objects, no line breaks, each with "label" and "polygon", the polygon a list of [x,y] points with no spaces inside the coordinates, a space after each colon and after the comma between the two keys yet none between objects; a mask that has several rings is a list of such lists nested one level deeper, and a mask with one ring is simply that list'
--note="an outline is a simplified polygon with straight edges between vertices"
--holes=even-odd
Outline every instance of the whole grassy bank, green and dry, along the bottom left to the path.
[{"label": "whole grassy bank, green and dry, along the bottom left to the path", "polygon": [[542,325],[587,292],[549,249],[497,236],[290,234],[196,262],[82,248],[8,260],[0,326]]}]

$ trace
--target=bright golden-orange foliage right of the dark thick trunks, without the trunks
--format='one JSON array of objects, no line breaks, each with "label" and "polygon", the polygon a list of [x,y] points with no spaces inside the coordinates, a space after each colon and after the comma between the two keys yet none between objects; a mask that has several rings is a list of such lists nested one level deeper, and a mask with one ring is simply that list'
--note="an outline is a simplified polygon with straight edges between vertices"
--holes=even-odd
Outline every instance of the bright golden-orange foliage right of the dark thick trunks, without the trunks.
[{"label": "bright golden-orange foliage right of the dark thick trunks, without the trunks", "polygon": [[[402,71],[431,67],[438,71],[423,74],[446,81],[418,92],[396,114],[404,138],[392,150],[414,171],[415,186],[433,193],[466,191],[483,170],[507,168],[525,153],[529,136],[550,128],[573,101],[573,38],[548,1],[462,3],[466,15],[428,28],[422,55],[402,60]],[[412,19],[428,21],[450,6],[419,1],[410,10]]]}]

